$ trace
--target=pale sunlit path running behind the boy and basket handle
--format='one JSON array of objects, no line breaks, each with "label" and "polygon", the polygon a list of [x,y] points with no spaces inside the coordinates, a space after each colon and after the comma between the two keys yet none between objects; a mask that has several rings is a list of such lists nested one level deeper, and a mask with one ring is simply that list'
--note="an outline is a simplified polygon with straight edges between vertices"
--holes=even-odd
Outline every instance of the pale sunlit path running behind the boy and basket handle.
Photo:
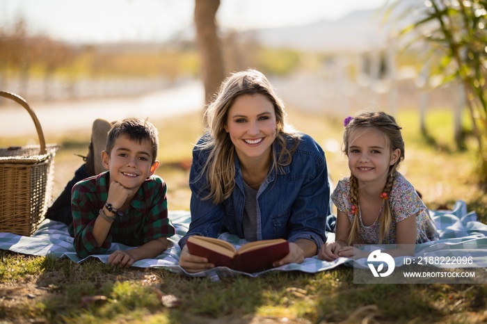
[{"label": "pale sunlit path running behind the boy and basket handle", "polygon": [[[30,103],[45,136],[91,128],[93,120],[120,120],[127,117],[161,118],[189,113],[203,106],[200,81],[166,88],[141,97],[79,100],[71,102]],[[0,137],[35,135],[34,124],[24,108],[6,99],[0,106]]]}]

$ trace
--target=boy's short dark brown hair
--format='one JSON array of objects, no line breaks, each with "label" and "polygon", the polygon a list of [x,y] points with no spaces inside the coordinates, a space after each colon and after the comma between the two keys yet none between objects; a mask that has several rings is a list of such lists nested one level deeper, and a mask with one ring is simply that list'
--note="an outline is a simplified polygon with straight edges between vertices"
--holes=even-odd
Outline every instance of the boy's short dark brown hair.
[{"label": "boy's short dark brown hair", "polygon": [[142,140],[149,140],[152,144],[152,164],[156,161],[157,150],[159,149],[159,132],[152,123],[136,118],[126,118],[115,122],[106,138],[106,153],[111,154],[115,140],[121,135],[129,136],[130,140],[138,140],[138,143],[142,143]]}]

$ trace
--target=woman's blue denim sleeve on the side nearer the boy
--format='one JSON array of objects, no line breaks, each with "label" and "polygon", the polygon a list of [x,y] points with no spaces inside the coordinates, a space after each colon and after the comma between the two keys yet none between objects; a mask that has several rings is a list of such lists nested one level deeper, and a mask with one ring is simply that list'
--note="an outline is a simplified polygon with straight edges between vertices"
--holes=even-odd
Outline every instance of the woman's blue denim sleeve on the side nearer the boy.
[{"label": "woman's blue denim sleeve on the side nearer the boy", "polygon": [[189,172],[189,188],[191,188],[191,223],[188,232],[179,240],[182,248],[189,236],[216,237],[221,232],[223,225],[223,204],[214,204],[211,199],[205,200],[209,188],[207,175],[202,175],[202,170],[208,158],[205,151],[195,147],[193,149],[193,163]]}]

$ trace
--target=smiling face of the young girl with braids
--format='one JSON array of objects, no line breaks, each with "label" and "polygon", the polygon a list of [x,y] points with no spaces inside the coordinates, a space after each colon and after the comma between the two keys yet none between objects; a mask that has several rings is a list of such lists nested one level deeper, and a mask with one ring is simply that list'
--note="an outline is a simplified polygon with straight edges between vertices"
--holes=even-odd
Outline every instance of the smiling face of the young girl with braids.
[{"label": "smiling face of the young girl with braids", "polygon": [[401,150],[390,152],[385,134],[374,128],[356,129],[350,133],[349,140],[349,168],[359,185],[385,184],[389,167],[399,159]]}]

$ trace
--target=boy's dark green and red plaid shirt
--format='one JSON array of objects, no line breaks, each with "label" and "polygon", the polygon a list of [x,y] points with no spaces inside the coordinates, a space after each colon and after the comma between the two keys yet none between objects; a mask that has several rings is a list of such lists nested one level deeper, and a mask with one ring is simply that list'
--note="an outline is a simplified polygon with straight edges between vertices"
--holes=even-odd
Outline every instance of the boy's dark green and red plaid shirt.
[{"label": "boy's dark green and red plaid shirt", "polygon": [[107,181],[110,181],[110,172],[79,181],[72,189],[73,222],[68,231],[74,237],[74,249],[79,257],[106,254],[112,242],[138,246],[175,234],[175,227],[168,218],[166,183],[152,175],[138,188],[125,214],[117,215],[104,243],[98,246],[93,225],[108,197]]}]

